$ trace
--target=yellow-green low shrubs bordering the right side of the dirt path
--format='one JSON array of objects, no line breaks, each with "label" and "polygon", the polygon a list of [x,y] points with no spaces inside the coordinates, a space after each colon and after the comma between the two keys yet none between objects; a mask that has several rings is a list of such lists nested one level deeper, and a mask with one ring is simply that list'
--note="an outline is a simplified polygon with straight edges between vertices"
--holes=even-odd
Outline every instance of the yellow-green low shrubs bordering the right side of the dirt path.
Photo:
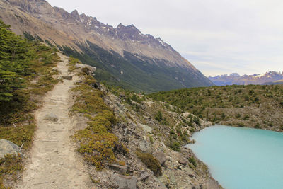
[{"label": "yellow-green low shrubs bordering the right side of the dirt path", "polygon": [[[71,59],[71,62],[76,61]],[[79,142],[78,151],[83,154],[86,161],[101,170],[105,164],[119,163],[115,153],[127,154],[127,149],[111,132],[112,125],[117,124],[117,119],[104,103],[103,92],[93,87],[96,80],[84,72],[82,76],[83,83],[72,89],[79,93],[73,111],[83,113],[90,121],[85,129],[79,130],[73,137]]]}]

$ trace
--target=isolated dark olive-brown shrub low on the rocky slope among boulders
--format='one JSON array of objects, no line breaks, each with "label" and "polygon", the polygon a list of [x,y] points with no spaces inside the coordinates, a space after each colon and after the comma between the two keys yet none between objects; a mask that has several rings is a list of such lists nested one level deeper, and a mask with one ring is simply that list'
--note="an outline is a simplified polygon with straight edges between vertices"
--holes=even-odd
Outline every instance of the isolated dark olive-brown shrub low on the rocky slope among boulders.
[{"label": "isolated dark olive-brown shrub low on the rocky slope among boulders", "polygon": [[161,165],[159,164],[159,161],[154,158],[154,156],[152,156],[151,154],[143,153],[141,151],[137,151],[136,154],[141,160],[141,162],[144,163],[147,168],[154,172],[155,176],[162,175]]}]

